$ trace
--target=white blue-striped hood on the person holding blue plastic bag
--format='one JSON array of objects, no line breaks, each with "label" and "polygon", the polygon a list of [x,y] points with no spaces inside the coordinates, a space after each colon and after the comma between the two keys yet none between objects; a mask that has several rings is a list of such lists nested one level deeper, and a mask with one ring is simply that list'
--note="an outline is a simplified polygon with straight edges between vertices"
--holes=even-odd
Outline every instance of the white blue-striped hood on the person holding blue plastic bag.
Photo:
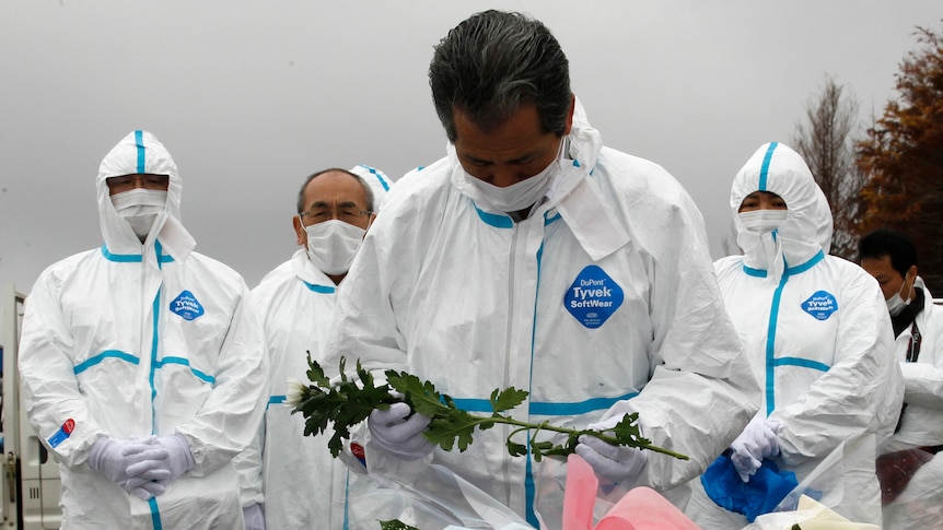
[{"label": "white blue-striped hood on the person holding blue plastic bag", "polygon": [[[775,232],[750,232],[741,222],[737,210],[754,191],[769,191],[785,201],[789,214]],[[828,201],[802,156],[779,142],[761,145],[736,174],[730,207],[744,266],[766,271],[766,278],[776,283],[790,269],[831,248]]]}]

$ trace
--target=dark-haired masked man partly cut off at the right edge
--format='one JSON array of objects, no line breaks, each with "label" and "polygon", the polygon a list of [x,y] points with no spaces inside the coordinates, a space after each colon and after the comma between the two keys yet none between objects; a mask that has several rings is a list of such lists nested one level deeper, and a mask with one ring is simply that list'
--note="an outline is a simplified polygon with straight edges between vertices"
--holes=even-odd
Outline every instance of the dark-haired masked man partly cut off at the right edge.
[{"label": "dark-haired masked man partly cut off at the right edge", "polygon": [[943,523],[943,308],[918,275],[906,235],[878,228],[858,248],[887,304],[904,374],[900,420],[878,448],[883,528],[934,528]]}]

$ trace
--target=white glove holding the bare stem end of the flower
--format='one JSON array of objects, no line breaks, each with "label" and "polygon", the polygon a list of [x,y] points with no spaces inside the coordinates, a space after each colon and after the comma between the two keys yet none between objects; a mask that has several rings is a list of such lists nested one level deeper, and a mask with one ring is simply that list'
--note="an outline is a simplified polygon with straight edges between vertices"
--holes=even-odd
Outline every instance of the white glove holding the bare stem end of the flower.
[{"label": "white glove holding the bare stem end of the flower", "polygon": [[[586,428],[608,431],[622,421],[622,417],[613,416],[599,423],[592,423]],[[639,427],[641,428],[641,425]],[[587,434],[580,436],[577,455],[592,466],[597,475],[627,485],[635,485],[649,459],[648,452],[638,447],[614,446]]]}]

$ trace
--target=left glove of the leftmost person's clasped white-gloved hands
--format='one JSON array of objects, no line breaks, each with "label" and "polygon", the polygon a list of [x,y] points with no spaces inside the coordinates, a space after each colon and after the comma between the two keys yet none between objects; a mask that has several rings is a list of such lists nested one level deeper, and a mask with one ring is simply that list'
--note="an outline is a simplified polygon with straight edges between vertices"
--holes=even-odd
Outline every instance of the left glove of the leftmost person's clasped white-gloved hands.
[{"label": "left glove of the leftmost person's clasped white-gloved hands", "polygon": [[[156,444],[156,438],[119,440],[98,438],[89,452],[89,467],[102,473],[119,486],[147,500],[162,487],[153,481],[167,479],[167,473],[159,469],[158,462],[166,460],[167,450]],[[152,483],[155,486],[143,487]]]}]

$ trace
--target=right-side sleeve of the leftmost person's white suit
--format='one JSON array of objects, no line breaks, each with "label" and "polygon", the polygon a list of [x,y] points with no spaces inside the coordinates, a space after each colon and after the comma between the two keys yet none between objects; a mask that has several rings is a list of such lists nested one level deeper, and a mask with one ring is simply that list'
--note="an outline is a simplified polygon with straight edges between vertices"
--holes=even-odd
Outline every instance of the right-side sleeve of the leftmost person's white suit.
[{"label": "right-side sleeve of the leftmost person's white suit", "polygon": [[212,392],[193,420],[177,426],[190,445],[196,462],[190,473],[197,476],[211,473],[245,450],[265,413],[268,361],[261,328],[246,313],[246,294],[243,282]]}]

